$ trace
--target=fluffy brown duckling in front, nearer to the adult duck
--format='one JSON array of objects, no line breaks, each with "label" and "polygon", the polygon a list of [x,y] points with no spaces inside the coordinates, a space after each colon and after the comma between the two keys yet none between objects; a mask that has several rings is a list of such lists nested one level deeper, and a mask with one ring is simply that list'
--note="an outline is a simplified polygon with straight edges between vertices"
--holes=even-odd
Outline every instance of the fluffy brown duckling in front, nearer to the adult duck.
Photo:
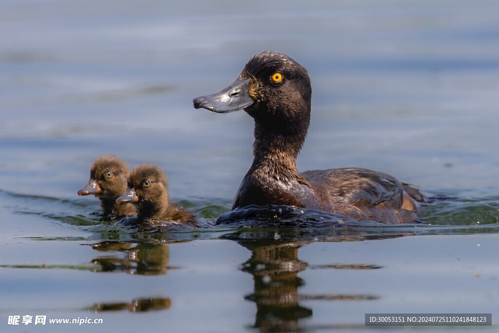
[{"label": "fluffy brown duckling in front, nearer to the adult duck", "polygon": [[133,203],[137,207],[139,223],[144,220],[172,221],[176,225],[197,227],[193,213],[170,203],[165,173],[156,165],[142,164],[132,170],[128,188],[116,203]]}]

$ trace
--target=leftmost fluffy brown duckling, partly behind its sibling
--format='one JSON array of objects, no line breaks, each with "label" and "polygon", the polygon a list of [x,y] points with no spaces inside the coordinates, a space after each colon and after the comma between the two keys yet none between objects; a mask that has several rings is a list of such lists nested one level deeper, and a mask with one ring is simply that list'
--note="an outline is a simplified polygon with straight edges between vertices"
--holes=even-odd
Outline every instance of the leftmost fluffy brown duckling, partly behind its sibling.
[{"label": "leftmost fluffy brown duckling, partly behind its sibling", "polygon": [[126,190],[128,167],[125,162],[114,156],[102,156],[90,168],[87,186],[78,195],[93,194],[100,200],[102,216],[106,219],[135,215],[131,204],[117,205],[116,199]]}]

